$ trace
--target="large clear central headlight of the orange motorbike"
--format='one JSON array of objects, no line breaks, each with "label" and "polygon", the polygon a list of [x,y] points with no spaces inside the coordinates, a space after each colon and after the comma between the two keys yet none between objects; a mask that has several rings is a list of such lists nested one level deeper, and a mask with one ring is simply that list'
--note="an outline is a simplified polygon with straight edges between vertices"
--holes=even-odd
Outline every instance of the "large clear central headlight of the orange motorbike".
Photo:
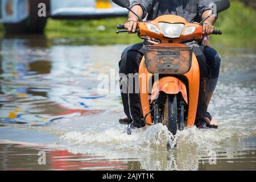
[{"label": "large clear central headlight of the orange motorbike", "polygon": [[159,22],[163,35],[167,38],[179,38],[184,28],[183,23],[163,23]]}]

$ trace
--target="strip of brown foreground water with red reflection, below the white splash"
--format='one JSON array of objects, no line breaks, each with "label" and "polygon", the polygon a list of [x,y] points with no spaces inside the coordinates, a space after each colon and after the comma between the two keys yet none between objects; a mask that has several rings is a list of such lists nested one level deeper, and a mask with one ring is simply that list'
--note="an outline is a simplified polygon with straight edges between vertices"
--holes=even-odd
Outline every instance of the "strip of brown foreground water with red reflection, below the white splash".
[{"label": "strip of brown foreground water with red reflection, below the white splash", "polygon": [[[0,144],[0,170],[256,170],[255,149],[218,152],[216,158],[197,151],[158,151],[141,153],[138,158],[114,153],[112,158],[76,150],[40,146]],[[46,152],[46,165],[38,164],[39,151]],[[131,153],[131,152],[130,152]],[[138,153],[136,152],[138,155]]]}]

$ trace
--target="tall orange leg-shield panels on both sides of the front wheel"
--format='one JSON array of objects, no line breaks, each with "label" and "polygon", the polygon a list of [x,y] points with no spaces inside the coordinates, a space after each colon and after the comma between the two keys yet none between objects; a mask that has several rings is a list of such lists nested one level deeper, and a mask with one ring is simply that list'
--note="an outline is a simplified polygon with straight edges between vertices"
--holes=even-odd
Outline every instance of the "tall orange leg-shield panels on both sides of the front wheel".
[{"label": "tall orange leg-shield panels on both sides of the front wheel", "polygon": [[[158,46],[184,46],[182,44],[159,44]],[[142,84],[145,84],[142,82],[141,79],[139,79],[139,89],[140,89],[140,96],[141,96],[141,105],[142,105],[142,111],[143,116],[145,116],[150,111],[150,97],[148,94],[148,82],[150,81],[152,74],[147,71],[144,57],[142,58],[141,64],[139,65],[139,75],[144,74],[146,75],[146,88],[147,92],[142,92]],[[189,72],[185,73],[184,76],[188,80],[188,85],[186,85],[186,89],[188,89],[188,121],[187,126],[191,127],[195,123],[196,118],[196,110],[197,110],[197,101],[199,97],[199,80],[200,80],[200,71],[199,71],[199,65],[197,63],[196,56],[192,55],[192,65]],[[144,85],[145,86],[145,85]],[[170,91],[171,92],[171,91]],[[146,118],[147,123],[153,123],[151,119],[151,114],[148,114]]]}]

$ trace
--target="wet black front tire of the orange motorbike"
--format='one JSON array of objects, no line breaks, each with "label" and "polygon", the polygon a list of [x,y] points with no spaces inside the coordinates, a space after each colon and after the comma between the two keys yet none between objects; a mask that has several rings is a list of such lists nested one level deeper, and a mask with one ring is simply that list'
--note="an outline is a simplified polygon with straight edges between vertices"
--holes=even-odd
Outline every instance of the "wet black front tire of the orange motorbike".
[{"label": "wet black front tire of the orange motorbike", "polygon": [[166,125],[168,130],[173,135],[176,135],[177,129],[178,129],[178,126],[177,126],[178,112],[177,112],[176,95],[167,95],[166,102],[163,108],[164,108],[163,114],[162,114],[163,125]]}]

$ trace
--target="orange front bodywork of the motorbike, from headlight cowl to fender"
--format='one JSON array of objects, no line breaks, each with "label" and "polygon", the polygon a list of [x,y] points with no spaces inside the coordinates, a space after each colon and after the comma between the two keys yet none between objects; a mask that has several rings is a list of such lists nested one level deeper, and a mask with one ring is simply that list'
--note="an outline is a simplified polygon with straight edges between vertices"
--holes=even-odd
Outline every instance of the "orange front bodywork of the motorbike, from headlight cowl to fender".
[{"label": "orange front bodywork of the motorbike, from headlight cowl to fender", "polygon": [[[175,49],[177,47],[184,47],[185,45],[181,43],[183,43],[186,40],[201,40],[202,34],[203,34],[203,27],[200,26],[200,24],[188,23],[184,18],[176,15],[163,15],[163,16],[159,16],[158,18],[152,21],[139,22],[138,27],[139,27],[139,36],[150,36],[151,38],[158,39],[162,42],[162,44],[157,45],[158,47],[161,47],[161,46],[170,47],[170,50]],[[168,52],[168,49],[164,51]],[[145,52],[145,54],[146,53],[147,52]],[[167,66],[170,68],[171,68],[171,64],[175,64],[174,63],[175,59],[179,59],[179,61],[182,61],[179,53],[172,52],[170,53],[171,56],[170,55],[168,56],[168,53],[164,54],[160,51],[160,49],[159,49],[159,52],[157,52],[156,50],[156,53],[159,53],[159,57],[167,55],[166,57],[170,59],[169,60],[170,65],[167,65]],[[149,55],[146,55],[146,56],[150,57]],[[150,58],[148,57],[147,57],[147,63],[148,63],[148,59],[150,60]],[[154,61],[156,61],[157,64],[161,64],[159,60],[160,59],[155,59]],[[152,66],[149,67],[150,65],[152,64],[147,64],[149,70],[152,67]],[[161,69],[159,69],[159,73],[160,71]],[[152,70],[151,72],[158,73]],[[176,75],[181,75],[181,73],[178,73],[178,72],[176,73],[177,73]],[[167,72],[164,73],[164,75],[170,75],[170,74],[171,72],[169,73],[168,69],[167,69]],[[172,72],[172,74],[175,75],[174,72]],[[146,80],[147,80],[146,83],[143,82],[142,79],[139,80],[141,104],[142,104],[142,111],[143,111],[144,117],[147,113],[150,113],[150,110],[151,110],[150,100],[151,102],[154,101],[160,91],[163,91],[167,94],[177,94],[180,92],[184,98],[184,101],[188,106],[187,126],[194,125],[195,118],[196,118],[197,102],[199,97],[199,80],[200,80],[199,65],[197,63],[197,59],[194,54],[192,54],[191,68],[187,73],[183,74],[183,76],[187,79],[186,81],[187,85],[185,85],[184,82],[182,82],[175,76],[162,77],[159,80],[155,80],[152,88],[152,95],[150,98],[148,88],[149,86],[152,86],[152,85],[149,85],[149,83],[150,83],[151,77],[154,75],[148,72],[145,65],[144,57],[139,66],[139,75],[146,75]],[[142,88],[147,88],[147,92],[145,92],[145,90],[142,90]],[[146,118],[146,122],[153,123],[151,114],[148,114]]]}]

